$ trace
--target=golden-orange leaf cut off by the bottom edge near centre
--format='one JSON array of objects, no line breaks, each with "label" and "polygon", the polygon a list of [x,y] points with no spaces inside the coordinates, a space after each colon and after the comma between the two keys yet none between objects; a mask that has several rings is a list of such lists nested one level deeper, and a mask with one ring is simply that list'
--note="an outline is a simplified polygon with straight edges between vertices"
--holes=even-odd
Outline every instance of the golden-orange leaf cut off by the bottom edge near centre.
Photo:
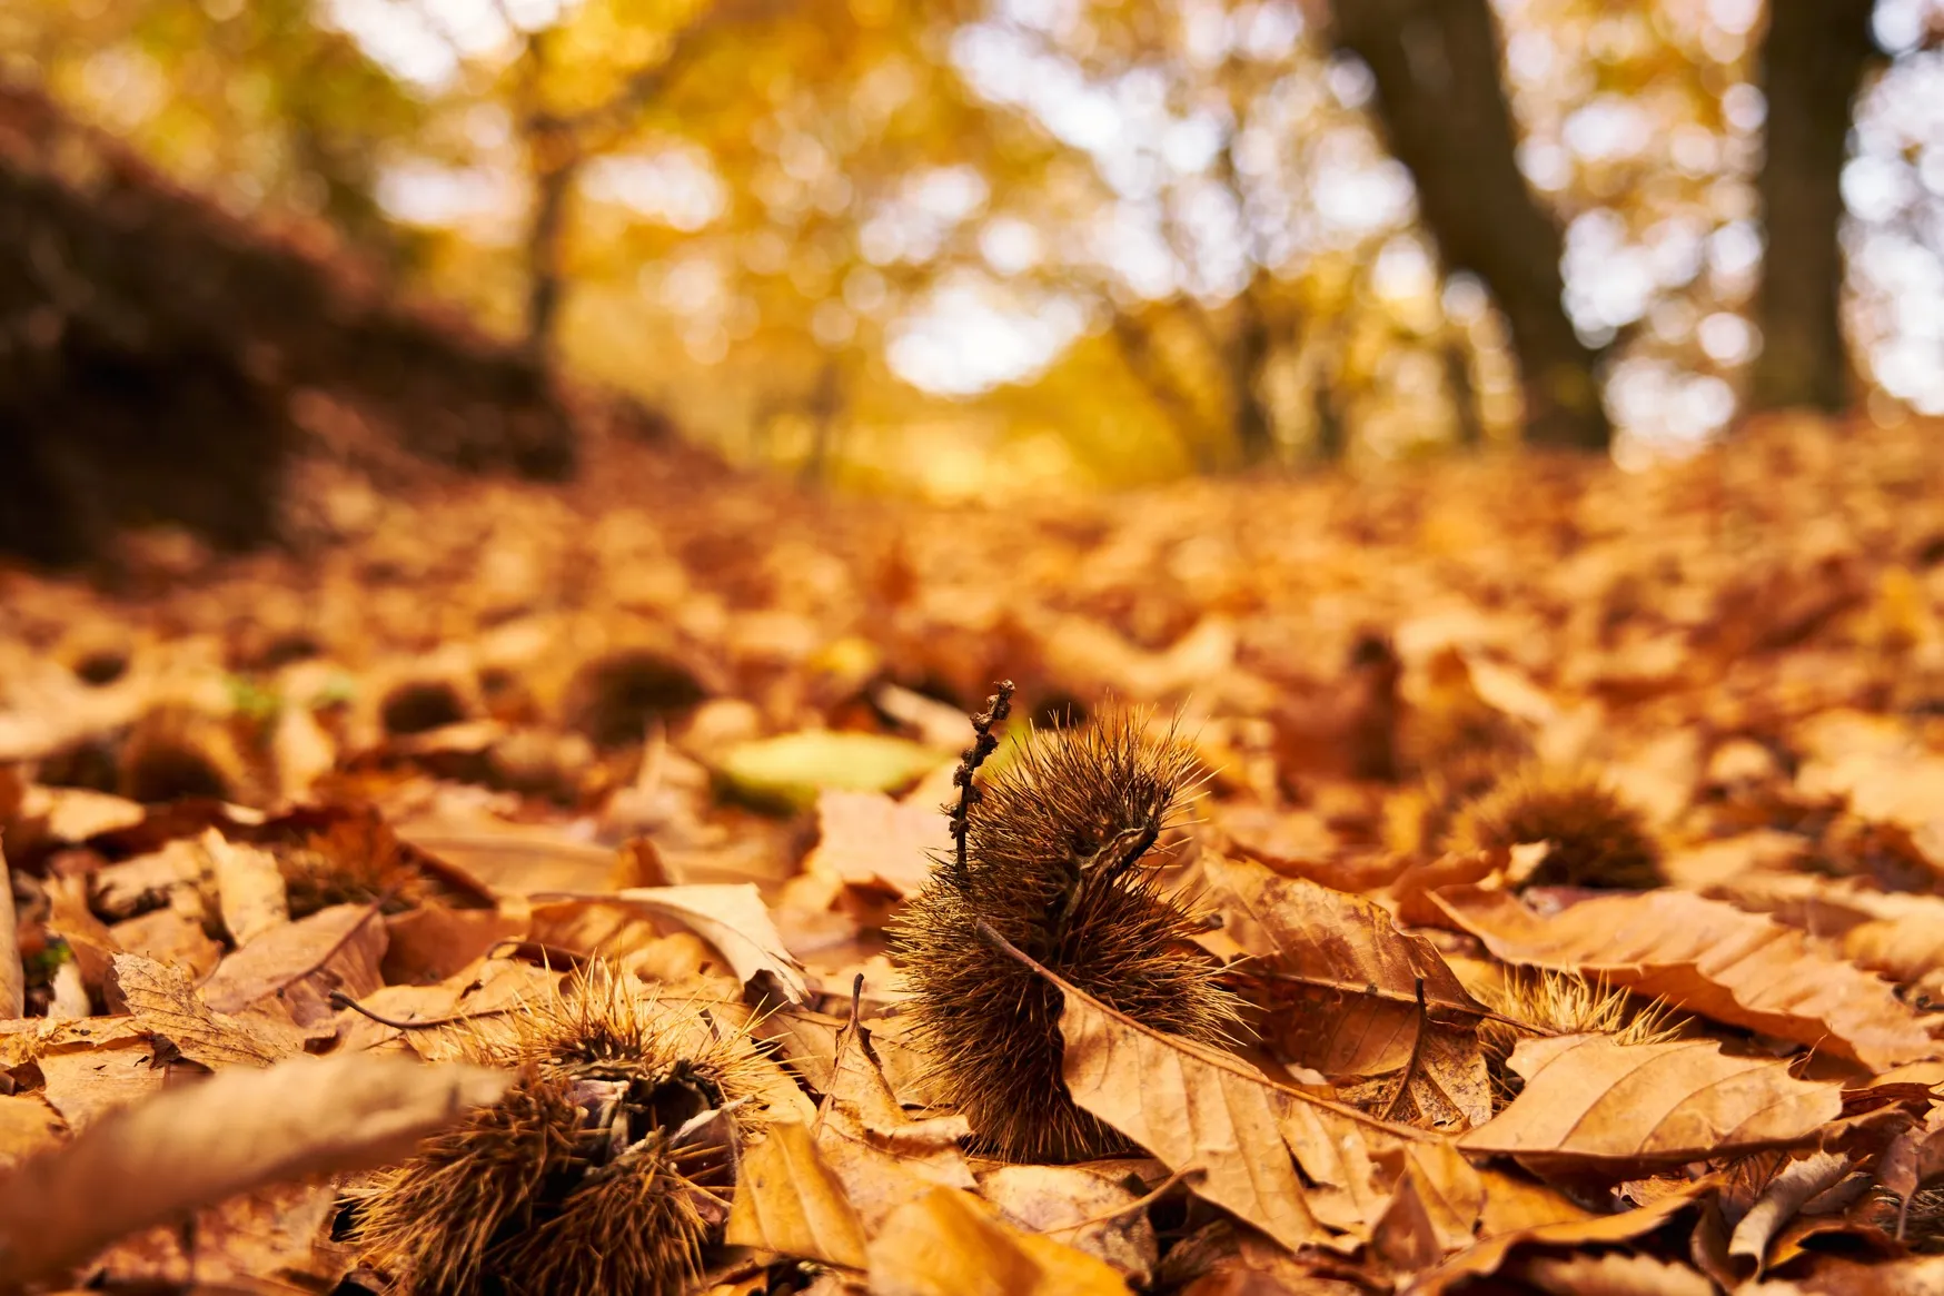
[{"label": "golden-orange leaf cut off by the bottom edge near centre", "polygon": [[1104,1261],[1019,1234],[968,1193],[935,1187],[871,1240],[873,1296],[1128,1296]]}]

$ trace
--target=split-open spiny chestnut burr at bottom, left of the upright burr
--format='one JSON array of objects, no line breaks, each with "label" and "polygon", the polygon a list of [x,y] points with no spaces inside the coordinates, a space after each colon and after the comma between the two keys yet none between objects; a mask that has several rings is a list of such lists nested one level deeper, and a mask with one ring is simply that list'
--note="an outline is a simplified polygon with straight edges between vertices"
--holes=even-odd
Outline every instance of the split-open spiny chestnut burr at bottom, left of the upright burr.
[{"label": "split-open spiny chestnut burr at bottom, left of the upright burr", "polygon": [[597,959],[467,1053],[519,1080],[354,1191],[364,1263],[416,1296],[682,1292],[764,1123],[748,1039]]}]

